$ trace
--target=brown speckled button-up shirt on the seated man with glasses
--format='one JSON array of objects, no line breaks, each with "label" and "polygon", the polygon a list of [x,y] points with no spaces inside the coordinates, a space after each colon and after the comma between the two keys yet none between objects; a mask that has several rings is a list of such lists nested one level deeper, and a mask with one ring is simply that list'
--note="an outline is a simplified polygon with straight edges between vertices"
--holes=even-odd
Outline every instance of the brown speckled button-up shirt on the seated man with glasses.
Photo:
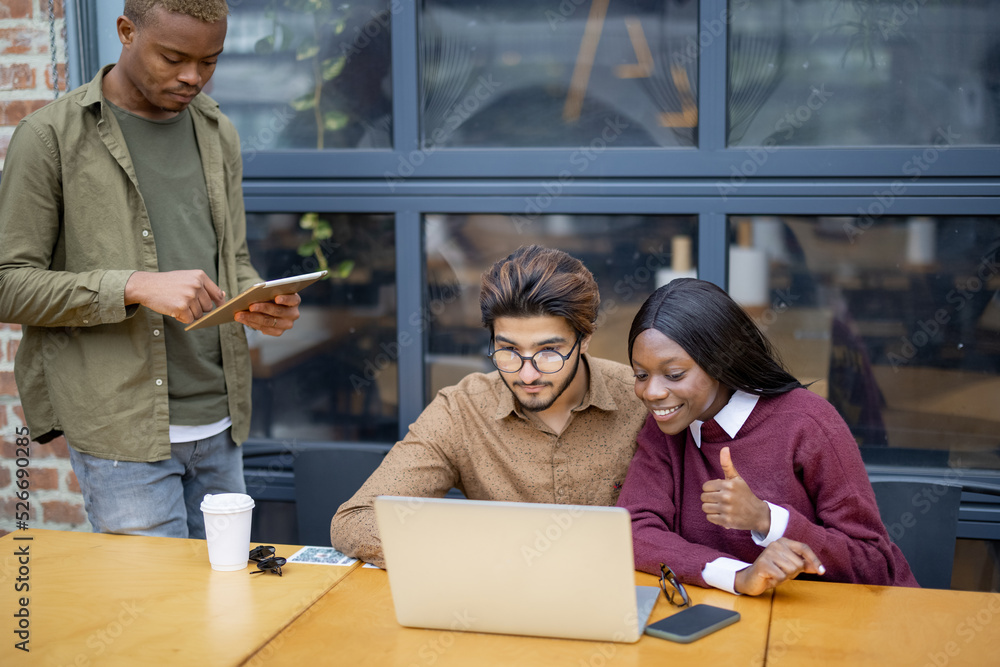
[{"label": "brown speckled button-up shirt on the seated man with glasses", "polygon": [[632,369],[584,355],[590,387],[561,433],[525,414],[499,371],[473,373],[437,397],[333,517],[333,546],[382,566],[372,502],[380,495],[614,505],[646,409]]}]

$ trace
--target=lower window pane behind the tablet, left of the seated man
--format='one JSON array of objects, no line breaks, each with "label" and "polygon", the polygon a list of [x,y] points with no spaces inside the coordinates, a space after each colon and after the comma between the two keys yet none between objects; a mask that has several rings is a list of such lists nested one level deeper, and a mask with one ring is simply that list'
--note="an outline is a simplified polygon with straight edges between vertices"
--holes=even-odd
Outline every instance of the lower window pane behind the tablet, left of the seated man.
[{"label": "lower window pane behind the tablet, left of the seated man", "polygon": [[251,436],[395,441],[398,429],[396,260],[390,215],[247,214],[254,267],[266,279],[333,278],[300,295],[279,338],[255,335]]}]

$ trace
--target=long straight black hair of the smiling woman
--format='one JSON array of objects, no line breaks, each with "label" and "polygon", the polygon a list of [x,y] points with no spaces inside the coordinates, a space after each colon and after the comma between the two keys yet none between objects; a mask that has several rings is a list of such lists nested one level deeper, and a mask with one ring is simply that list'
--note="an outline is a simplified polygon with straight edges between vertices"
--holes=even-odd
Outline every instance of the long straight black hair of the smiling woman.
[{"label": "long straight black hair of the smiling woman", "polygon": [[710,282],[678,278],[649,295],[628,334],[630,362],[635,339],[647,329],[680,345],[711,378],[734,389],[772,396],[803,386],[746,311]]}]

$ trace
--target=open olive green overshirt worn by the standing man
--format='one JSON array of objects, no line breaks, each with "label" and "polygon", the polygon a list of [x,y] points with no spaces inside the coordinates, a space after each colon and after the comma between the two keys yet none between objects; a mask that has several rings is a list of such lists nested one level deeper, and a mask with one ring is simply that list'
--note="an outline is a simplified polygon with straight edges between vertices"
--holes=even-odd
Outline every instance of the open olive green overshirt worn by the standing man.
[{"label": "open olive green overshirt worn by the standing man", "polygon": [[[126,308],[135,271],[158,271],[135,170],[101,93],[105,67],[22,120],[0,180],[0,321],[23,325],[14,375],[31,436],[65,433],[84,453],[170,458],[164,316]],[[217,237],[219,287],[237,294],[250,264],[239,136],[207,95],[188,107]],[[232,436],[250,430],[250,357],[238,323],[219,329]]]}]

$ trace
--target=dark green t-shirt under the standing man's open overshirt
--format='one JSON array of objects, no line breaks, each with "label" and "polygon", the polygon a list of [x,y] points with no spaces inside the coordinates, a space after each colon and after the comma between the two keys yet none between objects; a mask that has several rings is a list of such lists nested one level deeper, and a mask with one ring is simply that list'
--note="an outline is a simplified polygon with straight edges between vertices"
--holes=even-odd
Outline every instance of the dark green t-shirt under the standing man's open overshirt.
[{"label": "dark green t-shirt under the standing man's open overshirt", "polygon": [[[218,240],[191,112],[150,120],[109,106],[135,166],[160,271],[201,269],[218,284]],[[219,328],[184,331],[166,316],[163,323],[170,423],[201,426],[228,416]]]}]

